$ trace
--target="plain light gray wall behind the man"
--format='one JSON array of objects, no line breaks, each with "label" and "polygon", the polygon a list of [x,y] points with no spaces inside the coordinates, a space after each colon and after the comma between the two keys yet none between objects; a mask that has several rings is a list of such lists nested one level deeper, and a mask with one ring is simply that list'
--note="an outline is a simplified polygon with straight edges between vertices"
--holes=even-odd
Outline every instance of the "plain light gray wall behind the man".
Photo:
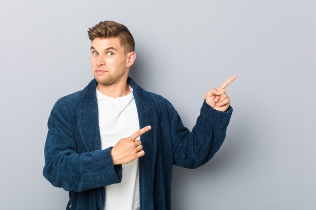
[{"label": "plain light gray wall behind the man", "polygon": [[192,128],[205,93],[232,75],[224,145],[196,170],[175,167],[173,209],[315,209],[316,2],[2,1],[0,208],[65,209],[42,176],[54,103],[93,78],[87,28],[128,26],[131,76]]}]

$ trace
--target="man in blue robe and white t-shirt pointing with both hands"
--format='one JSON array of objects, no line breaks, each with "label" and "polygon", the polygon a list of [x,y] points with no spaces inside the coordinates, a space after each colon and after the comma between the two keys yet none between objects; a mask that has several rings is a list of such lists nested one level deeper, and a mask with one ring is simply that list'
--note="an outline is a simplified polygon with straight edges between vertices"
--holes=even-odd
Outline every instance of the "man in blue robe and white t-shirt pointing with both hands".
[{"label": "man in blue robe and white t-shirt pointing with both hands", "polygon": [[236,77],[206,94],[190,132],[169,101],[128,77],[136,54],[125,26],[104,21],[88,35],[95,79],[51,110],[43,175],[69,191],[67,209],[170,209],[173,164],[197,168],[222,145]]}]

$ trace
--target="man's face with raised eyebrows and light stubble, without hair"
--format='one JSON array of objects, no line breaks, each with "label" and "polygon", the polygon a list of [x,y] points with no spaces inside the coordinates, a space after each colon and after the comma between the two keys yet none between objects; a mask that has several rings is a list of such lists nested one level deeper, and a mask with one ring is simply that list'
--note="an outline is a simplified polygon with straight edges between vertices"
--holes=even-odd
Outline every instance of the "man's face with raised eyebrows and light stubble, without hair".
[{"label": "man's face with raised eyebrows and light stubble, without hair", "polygon": [[118,83],[128,75],[129,53],[124,53],[118,37],[95,38],[91,42],[91,68],[96,82],[104,86]]}]

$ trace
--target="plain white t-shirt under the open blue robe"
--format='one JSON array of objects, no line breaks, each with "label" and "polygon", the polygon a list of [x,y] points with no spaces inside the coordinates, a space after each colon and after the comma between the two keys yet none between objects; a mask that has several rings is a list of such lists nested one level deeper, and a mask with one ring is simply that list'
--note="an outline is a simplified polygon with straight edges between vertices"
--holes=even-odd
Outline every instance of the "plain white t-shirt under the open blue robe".
[{"label": "plain white t-shirt under the open blue robe", "polygon": [[[100,93],[96,87],[102,150],[115,146],[121,138],[129,137],[139,129],[133,89],[130,87],[130,90],[126,96],[112,98]],[[139,160],[122,167],[121,183],[106,186],[104,210],[139,209]]]}]

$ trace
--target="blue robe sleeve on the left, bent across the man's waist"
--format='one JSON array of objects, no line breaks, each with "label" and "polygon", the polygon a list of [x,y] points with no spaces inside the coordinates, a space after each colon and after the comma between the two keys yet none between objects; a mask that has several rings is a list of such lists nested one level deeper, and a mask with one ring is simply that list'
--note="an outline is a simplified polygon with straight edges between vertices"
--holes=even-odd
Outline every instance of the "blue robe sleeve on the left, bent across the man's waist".
[{"label": "blue robe sleeve on the left, bent across the man's waist", "polygon": [[84,190],[119,183],[122,166],[113,165],[111,148],[78,153],[71,106],[60,100],[51,110],[45,142],[44,177],[68,191]]}]

